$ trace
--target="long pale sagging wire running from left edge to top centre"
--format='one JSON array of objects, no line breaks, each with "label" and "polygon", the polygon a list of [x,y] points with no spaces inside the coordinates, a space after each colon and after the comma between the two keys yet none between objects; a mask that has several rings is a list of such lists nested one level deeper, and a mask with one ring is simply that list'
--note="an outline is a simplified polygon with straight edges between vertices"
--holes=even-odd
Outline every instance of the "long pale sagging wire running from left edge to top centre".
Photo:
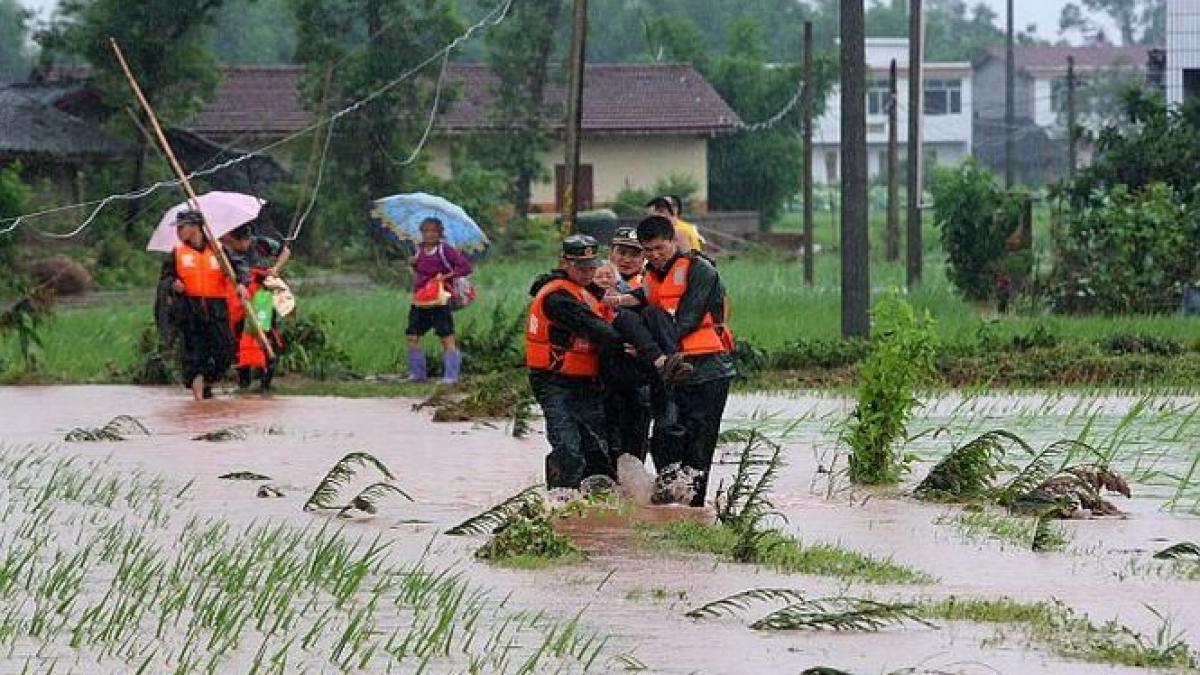
[{"label": "long pale sagging wire running from left edge to top centre", "polygon": [[[434,52],[433,54],[431,54],[427,59],[422,60],[420,64],[413,66],[412,68],[404,71],[403,73],[401,73],[395,79],[391,79],[391,80],[384,83],[383,85],[378,86],[377,89],[374,89],[373,91],[371,91],[370,94],[367,94],[366,96],[364,96],[362,98],[359,98],[358,101],[350,103],[349,106],[342,108],[341,110],[337,110],[336,113],[334,113],[329,118],[317,120],[317,121],[310,124],[308,126],[306,126],[306,127],[304,127],[304,129],[301,129],[299,131],[295,131],[293,133],[289,133],[288,136],[284,136],[283,138],[280,138],[278,141],[268,143],[266,145],[263,145],[262,148],[258,148],[257,150],[252,150],[250,153],[245,153],[245,154],[239,155],[236,157],[233,157],[230,160],[227,160],[224,162],[215,165],[211,168],[203,169],[203,171],[191,172],[190,174],[187,174],[187,179],[188,180],[193,180],[196,178],[203,178],[203,177],[206,177],[206,175],[212,175],[212,174],[222,172],[222,171],[224,171],[227,168],[238,166],[241,162],[245,162],[245,161],[247,161],[247,160],[250,160],[250,159],[252,159],[254,156],[259,156],[259,155],[270,153],[271,150],[275,150],[276,148],[280,148],[281,145],[286,145],[287,143],[290,143],[290,142],[293,142],[293,141],[295,141],[295,139],[298,139],[298,138],[300,138],[300,137],[302,137],[302,136],[305,136],[307,133],[311,133],[311,132],[313,132],[313,131],[316,131],[318,129],[322,129],[322,127],[324,127],[326,125],[332,125],[335,120],[337,120],[338,118],[341,118],[343,115],[348,115],[350,113],[358,112],[359,109],[361,109],[367,103],[370,103],[370,102],[374,101],[376,98],[383,96],[384,94],[386,94],[391,89],[395,89],[396,86],[398,86],[400,84],[402,84],[407,79],[414,77],[416,73],[419,73],[422,70],[425,70],[425,67],[427,67],[430,64],[434,62],[438,58],[444,58],[444,59],[446,59],[449,61],[450,53],[452,53],[455,49],[457,49],[458,47],[461,47],[464,42],[467,42],[472,37],[474,37],[476,32],[479,32],[480,30],[486,30],[488,28],[497,26],[502,22],[504,22],[504,19],[508,18],[509,11],[512,8],[512,2],[514,2],[514,0],[503,0],[496,7],[493,7],[492,11],[490,11],[487,14],[485,14],[484,18],[481,18],[479,22],[472,24],[466,31],[463,31],[461,35],[458,35],[454,40],[451,40],[449,44],[446,44],[445,47],[442,47],[440,49],[438,49],[437,52]],[[436,115],[436,113],[437,113],[437,108],[434,107],[434,113],[433,114]],[[431,118],[432,118],[432,115],[431,115]],[[431,124],[431,126],[432,126],[432,124]],[[424,138],[427,138],[427,137],[428,137],[428,130],[426,130],[426,135],[425,135]],[[424,139],[422,139],[422,144],[424,144]],[[100,198],[100,199],[92,199],[92,201],[89,201],[89,202],[79,202],[79,203],[76,203],[76,204],[66,204],[66,205],[62,205],[62,207],[54,207],[54,208],[50,208],[50,209],[43,209],[43,210],[40,210],[40,211],[31,211],[31,213],[28,213],[28,214],[22,214],[19,216],[11,216],[11,217],[6,217],[6,219],[0,219],[0,223],[5,223],[5,222],[11,223],[8,227],[6,227],[4,229],[0,229],[0,234],[8,234],[8,233],[13,232],[14,229],[17,229],[17,227],[19,227],[23,222],[25,222],[25,221],[28,221],[30,219],[34,219],[34,217],[40,217],[40,216],[44,216],[44,215],[52,215],[52,214],[68,211],[68,210],[74,210],[74,209],[82,209],[82,208],[86,208],[86,207],[95,207],[92,209],[92,211],[88,215],[88,217],[83,222],[79,223],[79,226],[77,226],[74,229],[72,229],[70,232],[66,232],[66,233],[47,232],[47,231],[42,231],[42,229],[37,229],[37,228],[30,227],[30,229],[32,229],[35,233],[37,233],[37,234],[40,234],[42,237],[47,237],[47,238],[50,238],[50,239],[71,239],[73,237],[79,235],[85,229],[88,229],[88,227],[90,227],[96,221],[96,219],[100,216],[101,211],[103,211],[104,208],[107,208],[113,202],[121,202],[121,201],[128,202],[128,201],[142,199],[142,198],[148,197],[149,195],[152,195],[154,192],[156,192],[156,191],[158,191],[161,189],[164,189],[164,187],[176,187],[179,185],[181,185],[181,181],[179,179],[161,180],[158,183],[155,183],[155,184],[149,185],[146,187],[142,187],[139,190],[133,190],[133,191],[130,191],[130,192],[122,192],[122,193],[115,193],[115,195],[108,195],[108,196],[106,196],[103,198]]]}]

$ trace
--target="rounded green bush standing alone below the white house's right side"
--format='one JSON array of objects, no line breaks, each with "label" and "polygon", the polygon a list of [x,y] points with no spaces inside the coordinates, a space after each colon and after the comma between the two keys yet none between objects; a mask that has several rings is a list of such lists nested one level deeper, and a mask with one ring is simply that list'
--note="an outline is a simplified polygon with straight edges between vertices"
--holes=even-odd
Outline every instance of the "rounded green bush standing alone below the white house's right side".
[{"label": "rounded green bush standing alone below the white house's right side", "polygon": [[967,299],[985,300],[996,287],[1004,241],[1016,232],[1021,196],[1006,197],[996,177],[973,160],[935,169],[932,183],[946,274]]}]

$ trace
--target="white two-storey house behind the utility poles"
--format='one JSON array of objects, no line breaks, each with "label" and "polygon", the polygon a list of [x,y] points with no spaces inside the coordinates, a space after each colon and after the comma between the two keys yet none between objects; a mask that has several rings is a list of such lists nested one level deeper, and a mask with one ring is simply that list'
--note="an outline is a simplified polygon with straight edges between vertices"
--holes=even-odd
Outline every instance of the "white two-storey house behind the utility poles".
[{"label": "white two-storey house behind the utility poles", "polygon": [[[888,71],[896,61],[900,155],[908,139],[908,38],[866,38],[866,151],[868,172],[887,173]],[[926,62],[924,151],[926,166],[962,162],[971,154],[971,64]],[[834,88],[824,114],[812,130],[812,180],[836,183],[841,178],[841,91]]]}]

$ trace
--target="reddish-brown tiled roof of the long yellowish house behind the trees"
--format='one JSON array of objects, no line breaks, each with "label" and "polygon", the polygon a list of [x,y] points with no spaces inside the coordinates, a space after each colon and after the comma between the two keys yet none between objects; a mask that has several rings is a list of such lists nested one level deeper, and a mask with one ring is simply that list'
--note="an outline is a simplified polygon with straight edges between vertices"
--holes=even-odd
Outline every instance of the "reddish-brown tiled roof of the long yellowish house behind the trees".
[{"label": "reddish-brown tiled roof of the long yellowish house behind the trees", "polygon": [[[300,98],[296,66],[232,66],[200,114],[187,126],[206,136],[283,136],[311,115]],[[451,64],[448,83],[458,95],[438,115],[445,132],[502,129],[493,115],[496,78],[486,65]],[[563,126],[565,88],[547,83],[546,124]],[[686,64],[595,64],[583,79],[583,131],[595,135],[712,135],[731,131],[738,117]]]}]

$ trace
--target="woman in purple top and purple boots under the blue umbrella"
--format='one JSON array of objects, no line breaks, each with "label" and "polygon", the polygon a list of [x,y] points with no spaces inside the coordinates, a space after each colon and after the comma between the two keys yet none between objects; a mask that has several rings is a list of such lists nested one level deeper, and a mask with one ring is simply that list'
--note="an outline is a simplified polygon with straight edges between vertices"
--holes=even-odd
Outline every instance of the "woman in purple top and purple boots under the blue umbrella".
[{"label": "woman in purple top and purple boots under the blue umbrella", "polygon": [[472,273],[470,261],[444,241],[445,227],[438,217],[421,221],[421,241],[413,256],[413,304],[408,309],[408,378],[421,382],[427,377],[421,338],[432,329],[442,340],[444,384],[458,382],[462,352],[454,338],[454,315],[450,313],[450,287],[455,279]]}]

